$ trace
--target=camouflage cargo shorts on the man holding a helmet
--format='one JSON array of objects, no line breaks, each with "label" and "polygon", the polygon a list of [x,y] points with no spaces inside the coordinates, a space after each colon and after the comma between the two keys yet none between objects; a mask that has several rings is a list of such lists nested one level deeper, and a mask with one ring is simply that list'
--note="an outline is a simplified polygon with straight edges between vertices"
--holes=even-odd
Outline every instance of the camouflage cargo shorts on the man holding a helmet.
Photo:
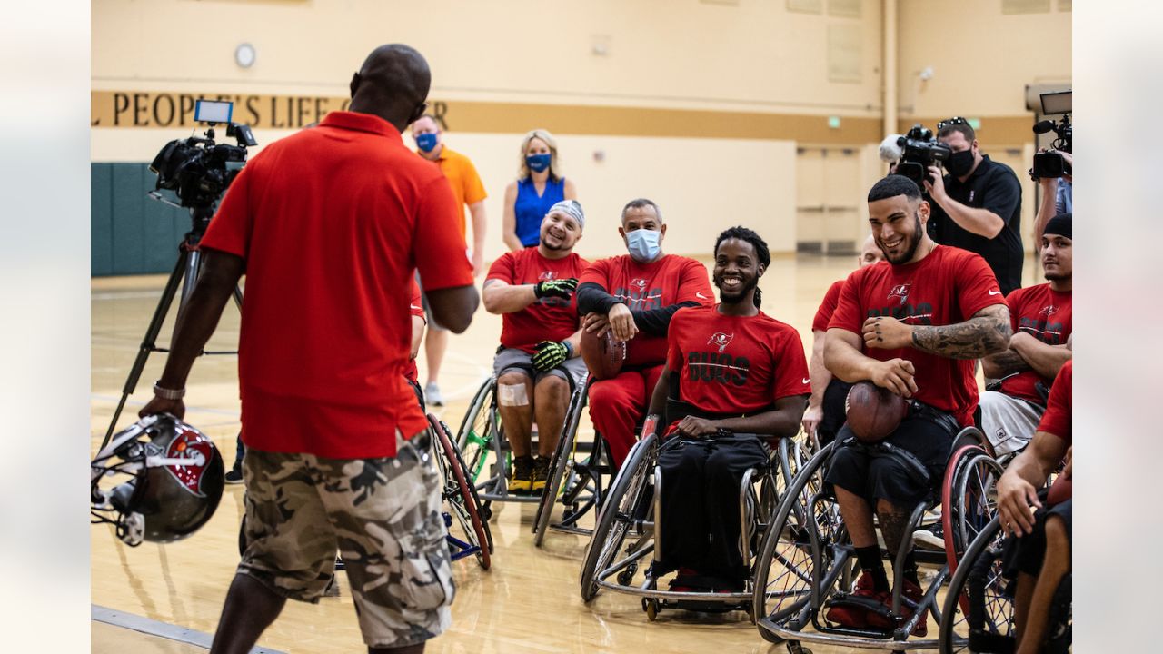
[{"label": "camouflage cargo shorts on the man holding a helmet", "polygon": [[238,564],[272,591],[319,602],[347,568],[369,647],[404,647],[451,621],[455,587],[431,436],[397,436],[384,458],[320,458],[248,449],[247,549]]}]

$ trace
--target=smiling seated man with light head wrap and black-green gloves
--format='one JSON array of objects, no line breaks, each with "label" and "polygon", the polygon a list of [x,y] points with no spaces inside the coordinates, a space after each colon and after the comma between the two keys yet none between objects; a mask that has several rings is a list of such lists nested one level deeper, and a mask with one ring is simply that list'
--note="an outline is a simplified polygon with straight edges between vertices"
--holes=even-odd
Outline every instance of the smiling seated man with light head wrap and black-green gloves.
[{"label": "smiling seated man with light head wrap and black-green gloves", "polygon": [[[588,262],[573,253],[585,213],[577,200],[554,205],[541,221],[536,248],[505,253],[488,269],[485,310],[502,317],[493,358],[497,408],[513,448],[508,488],[540,493],[557,447],[571,385],[585,382],[573,291]],[[537,422],[537,457],[530,452]]]}]

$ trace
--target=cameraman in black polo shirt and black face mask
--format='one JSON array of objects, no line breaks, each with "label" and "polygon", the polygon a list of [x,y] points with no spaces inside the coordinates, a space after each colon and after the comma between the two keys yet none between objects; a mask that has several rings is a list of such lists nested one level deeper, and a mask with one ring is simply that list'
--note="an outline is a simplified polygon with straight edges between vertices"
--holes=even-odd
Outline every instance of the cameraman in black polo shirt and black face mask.
[{"label": "cameraman in black polo shirt and black face mask", "polygon": [[948,175],[929,166],[925,191],[932,200],[929,236],[943,246],[982,255],[1003,294],[1021,287],[1021,184],[1013,169],[983,155],[963,118],[937,123],[937,141],[952,155]]}]

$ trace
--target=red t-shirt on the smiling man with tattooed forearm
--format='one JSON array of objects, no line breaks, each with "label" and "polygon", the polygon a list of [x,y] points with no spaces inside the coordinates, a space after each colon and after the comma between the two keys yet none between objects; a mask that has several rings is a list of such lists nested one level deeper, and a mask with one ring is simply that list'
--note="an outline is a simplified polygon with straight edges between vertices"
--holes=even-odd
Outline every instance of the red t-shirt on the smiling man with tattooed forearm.
[{"label": "red t-shirt on the smiling man with tattooed forearm", "polygon": [[[859,335],[864,320],[878,315],[907,325],[956,325],[997,304],[1005,300],[985,260],[961,248],[937,246],[916,263],[878,263],[852,272],[840,292],[828,329]],[[972,425],[978,397],[973,360],[947,358],[911,347],[868,348],[863,341],[861,337],[866,356],[913,362],[915,399],[952,413],[964,426]]]}]

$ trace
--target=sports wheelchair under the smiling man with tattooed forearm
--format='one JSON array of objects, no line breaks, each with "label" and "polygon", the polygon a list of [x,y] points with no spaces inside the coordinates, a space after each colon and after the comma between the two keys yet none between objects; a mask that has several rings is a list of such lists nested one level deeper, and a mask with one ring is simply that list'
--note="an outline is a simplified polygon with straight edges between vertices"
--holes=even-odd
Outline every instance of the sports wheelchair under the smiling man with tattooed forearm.
[{"label": "sports wheelchair under the smiling man with tattooed forearm", "polygon": [[[882,617],[894,627],[856,628],[830,624],[823,617],[832,603],[852,602],[848,591],[859,575],[840,505],[823,483],[825,469],[837,447],[837,442],[828,443],[798,470],[764,534],[755,566],[751,609],[759,634],[769,642],[786,642],[792,654],[809,653],[801,645],[805,641],[894,652],[936,647],[936,639],[909,640],[909,635],[926,613],[932,613],[941,628],[958,619],[939,610],[937,593],[957,569],[969,543],[996,514],[1001,467],[986,449],[979,429],[965,427],[957,434],[940,492],[913,509],[906,532],[940,531],[937,520],[927,518],[940,506],[944,550],[916,548],[914,554],[921,567],[935,568],[928,588],[922,589],[915,605],[904,596],[905,559],[913,542],[902,539],[898,552],[884,553],[893,562],[892,606]],[[907,619],[902,612],[906,603],[912,609]]]}]

